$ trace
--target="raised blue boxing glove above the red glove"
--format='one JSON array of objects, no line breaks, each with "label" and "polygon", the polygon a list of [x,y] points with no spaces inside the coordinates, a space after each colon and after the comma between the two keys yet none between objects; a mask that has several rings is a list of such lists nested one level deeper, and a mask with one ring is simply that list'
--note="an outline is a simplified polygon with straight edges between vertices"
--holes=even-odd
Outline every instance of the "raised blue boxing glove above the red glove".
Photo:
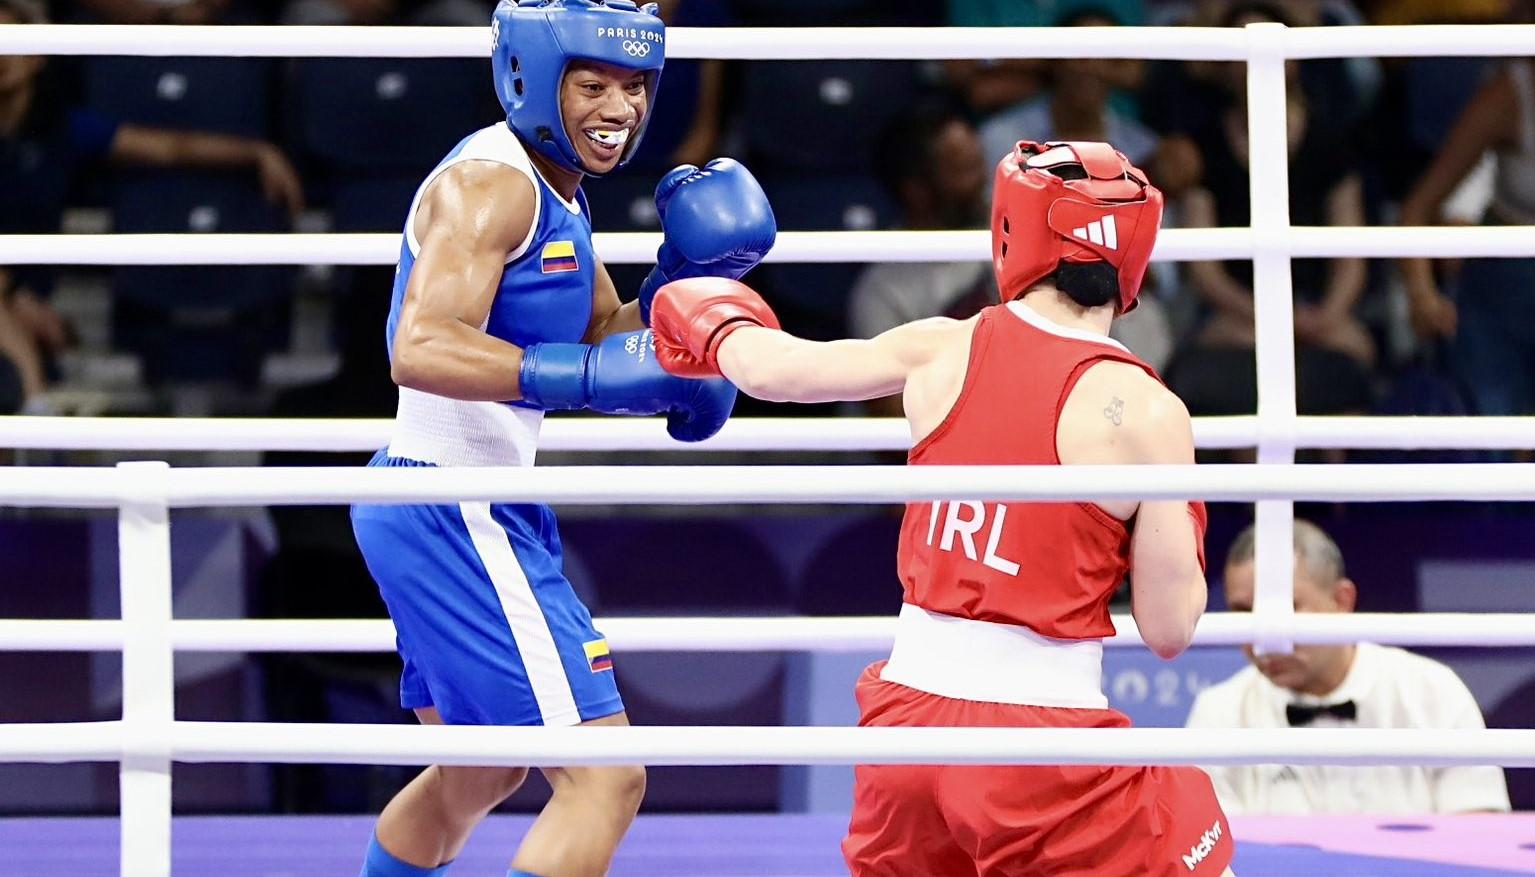
[{"label": "raised blue boxing glove above the red glove", "polygon": [[655,184],[665,240],[640,284],[640,319],[651,324],[655,290],[674,280],[740,280],[763,261],[778,237],[768,195],[740,161],[715,158],[700,170],[674,167]]}]

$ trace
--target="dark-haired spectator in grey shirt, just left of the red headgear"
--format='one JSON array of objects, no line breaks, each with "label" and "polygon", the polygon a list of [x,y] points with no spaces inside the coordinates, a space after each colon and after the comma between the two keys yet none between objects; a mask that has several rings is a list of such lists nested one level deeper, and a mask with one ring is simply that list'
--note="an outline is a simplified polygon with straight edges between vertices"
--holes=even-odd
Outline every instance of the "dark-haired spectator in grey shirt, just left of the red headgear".
[{"label": "dark-haired spectator in grey shirt, just left of the red headgear", "polygon": [[[904,229],[984,226],[992,164],[975,126],[959,108],[941,100],[919,103],[893,118],[875,155],[880,181],[901,206]],[[995,300],[992,266],[982,260],[876,263],[853,284],[849,327],[858,338],[873,338],[924,316],[966,319]],[[880,416],[901,416],[900,396],[867,405]]]}]

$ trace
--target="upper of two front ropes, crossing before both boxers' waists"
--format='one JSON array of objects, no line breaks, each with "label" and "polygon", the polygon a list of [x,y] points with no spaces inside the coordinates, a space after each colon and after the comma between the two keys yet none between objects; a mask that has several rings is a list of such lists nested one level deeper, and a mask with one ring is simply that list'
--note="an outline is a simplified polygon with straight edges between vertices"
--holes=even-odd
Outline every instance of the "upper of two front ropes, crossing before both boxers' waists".
[{"label": "upper of two front ropes, crossing before both boxers' waists", "polygon": [[[130,487],[111,468],[18,467],[0,482],[0,505],[107,507]],[[1529,502],[1535,501],[1535,464],[206,467],[169,470],[164,498],[172,508],[348,502],[858,505],[953,498]]]}]

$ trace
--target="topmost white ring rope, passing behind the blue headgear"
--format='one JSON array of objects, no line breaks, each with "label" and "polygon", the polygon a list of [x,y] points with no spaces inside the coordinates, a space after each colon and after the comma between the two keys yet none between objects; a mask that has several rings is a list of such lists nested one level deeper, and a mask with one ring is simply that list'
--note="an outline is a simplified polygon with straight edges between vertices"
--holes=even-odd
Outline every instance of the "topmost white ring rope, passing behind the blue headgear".
[{"label": "topmost white ring rope, passing behind the blue headgear", "polygon": [[[1289,58],[1527,55],[1532,25],[1285,28]],[[484,58],[487,28],[0,25],[9,55]],[[723,60],[1153,58],[1242,61],[1228,28],[671,28],[666,57]]]}]

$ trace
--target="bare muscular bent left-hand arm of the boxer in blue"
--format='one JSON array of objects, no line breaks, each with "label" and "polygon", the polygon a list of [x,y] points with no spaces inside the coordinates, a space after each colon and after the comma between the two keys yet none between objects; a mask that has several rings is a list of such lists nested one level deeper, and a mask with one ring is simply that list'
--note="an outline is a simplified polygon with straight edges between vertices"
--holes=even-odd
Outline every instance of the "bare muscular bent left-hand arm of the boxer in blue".
[{"label": "bare muscular bent left-hand arm of the boxer in blue", "polygon": [[507,253],[533,227],[533,181],[491,161],[444,170],[416,209],[421,253],[394,329],[401,387],[470,401],[522,398],[522,349],[480,330]]}]

